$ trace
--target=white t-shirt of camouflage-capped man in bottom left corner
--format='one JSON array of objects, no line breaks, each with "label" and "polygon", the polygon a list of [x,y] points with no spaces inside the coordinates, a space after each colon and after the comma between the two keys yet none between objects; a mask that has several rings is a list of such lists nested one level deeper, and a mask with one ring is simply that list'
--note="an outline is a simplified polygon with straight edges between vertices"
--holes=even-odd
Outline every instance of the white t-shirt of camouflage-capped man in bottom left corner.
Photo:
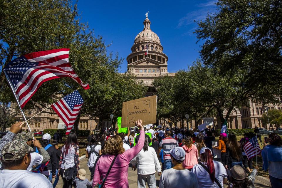
[{"label": "white t-shirt of camouflage-capped man in bottom left corner", "polygon": [[9,188],[53,188],[46,176],[27,170],[1,170],[0,186]]}]

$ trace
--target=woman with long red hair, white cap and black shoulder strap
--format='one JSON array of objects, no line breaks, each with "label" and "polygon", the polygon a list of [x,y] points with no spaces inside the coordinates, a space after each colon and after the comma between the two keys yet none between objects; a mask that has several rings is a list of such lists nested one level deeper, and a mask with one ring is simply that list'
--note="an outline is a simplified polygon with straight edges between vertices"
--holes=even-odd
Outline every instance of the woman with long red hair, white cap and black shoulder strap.
[{"label": "woman with long red hair, white cap and black shoulder strap", "polygon": [[200,150],[199,164],[195,164],[192,172],[196,174],[199,187],[218,188],[227,183],[227,173],[223,164],[212,160],[212,150],[203,147]]}]

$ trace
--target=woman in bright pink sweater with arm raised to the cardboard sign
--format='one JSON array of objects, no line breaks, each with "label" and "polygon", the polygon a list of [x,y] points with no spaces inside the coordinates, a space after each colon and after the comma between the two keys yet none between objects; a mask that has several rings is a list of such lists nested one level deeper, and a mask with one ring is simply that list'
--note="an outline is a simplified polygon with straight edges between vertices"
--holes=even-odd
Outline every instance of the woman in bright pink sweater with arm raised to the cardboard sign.
[{"label": "woman in bright pink sweater with arm raised to the cardboard sign", "polygon": [[117,155],[116,160],[113,164],[113,167],[110,169],[110,173],[107,177],[104,187],[129,187],[127,181],[129,161],[132,160],[142,150],[145,140],[145,132],[142,126],[142,120],[138,120],[136,125],[140,128],[140,137],[138,143],[129,150],[125,151],[123,148],[123,140],[118,135],[111,136],[106,141],[105,147],[102,150],[104,155],[101,155],[95,167],[92,187],[105,178],[108,169],[115,158],[115,155]]}]

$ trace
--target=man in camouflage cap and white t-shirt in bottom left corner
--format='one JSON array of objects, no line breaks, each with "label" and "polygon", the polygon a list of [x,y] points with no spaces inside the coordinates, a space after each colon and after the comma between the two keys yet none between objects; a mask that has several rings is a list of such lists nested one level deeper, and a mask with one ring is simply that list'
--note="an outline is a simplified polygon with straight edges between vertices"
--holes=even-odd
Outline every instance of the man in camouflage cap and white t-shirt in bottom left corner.
[{"label": "man in camouflage cap and white t-shirt in bottom left corner", "polygon": [[46,187],[52,188],[51,182],[39,173],[27,171],[31,162],[30,152],[33,148],[23,140],[8,142],[1,151],[1,162],[4,169],[0,171],[0,185],[2,187]]}]

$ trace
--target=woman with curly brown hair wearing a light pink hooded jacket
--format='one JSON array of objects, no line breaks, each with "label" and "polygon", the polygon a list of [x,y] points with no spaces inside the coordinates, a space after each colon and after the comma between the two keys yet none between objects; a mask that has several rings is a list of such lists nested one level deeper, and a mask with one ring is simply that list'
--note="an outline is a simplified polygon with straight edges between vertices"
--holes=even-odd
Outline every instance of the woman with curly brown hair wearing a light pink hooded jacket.
[{"label": "woman with curly brown hair wearing a light pink hooded jacket", "polygon": [[185,160],[182,164],[186,169],[191,170],[195,164],[198,164],[198,149],[189,136],[183,139],[182,148],[186,152]]}]

